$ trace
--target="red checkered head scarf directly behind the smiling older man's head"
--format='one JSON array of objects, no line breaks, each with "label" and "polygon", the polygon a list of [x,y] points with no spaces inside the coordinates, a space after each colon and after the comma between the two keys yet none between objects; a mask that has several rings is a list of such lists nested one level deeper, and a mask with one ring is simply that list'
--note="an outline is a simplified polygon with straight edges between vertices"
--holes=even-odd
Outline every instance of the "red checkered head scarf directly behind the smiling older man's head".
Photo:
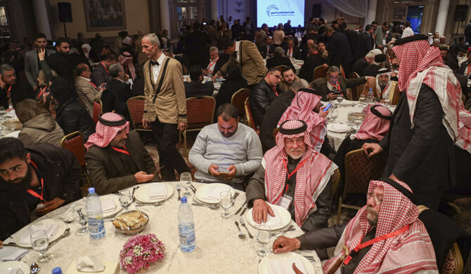
[{"label": "red checkered head scarf directly behind the smiling older man's head", "polygon": [[313,149],[321,151],[327,127],[325,119],[314,112],[314,108],[321,102],[322,96],[316,95],[313,92],[316,91],[311,88],[299,89],[290,107],[286,109],[280,121],[278,121],[278,127],[287,120],[302,120],[306,122],[307,132],[309,132],[311,137]]}]

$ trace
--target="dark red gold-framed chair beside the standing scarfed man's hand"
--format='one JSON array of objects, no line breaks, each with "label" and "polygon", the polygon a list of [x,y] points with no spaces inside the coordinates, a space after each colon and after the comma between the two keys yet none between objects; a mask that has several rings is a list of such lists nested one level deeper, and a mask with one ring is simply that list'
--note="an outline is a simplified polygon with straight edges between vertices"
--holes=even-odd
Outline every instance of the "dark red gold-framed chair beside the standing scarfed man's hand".
[{"label": "dark red gold-framed chair beside the standing scarfed man's hand", "polygon": [[344,203],[349,194],[366,195],[371,180],[380,179],[384,169],[387,157],[386,153],[380,153],[375,156],[366,155],[363,149],[350,151],[345,156],[345,180],[344,190],[339,197],[339,206],[337,211],[337,224],[340,224],[340,214],[342,207],[359,210],[356,205]]}]

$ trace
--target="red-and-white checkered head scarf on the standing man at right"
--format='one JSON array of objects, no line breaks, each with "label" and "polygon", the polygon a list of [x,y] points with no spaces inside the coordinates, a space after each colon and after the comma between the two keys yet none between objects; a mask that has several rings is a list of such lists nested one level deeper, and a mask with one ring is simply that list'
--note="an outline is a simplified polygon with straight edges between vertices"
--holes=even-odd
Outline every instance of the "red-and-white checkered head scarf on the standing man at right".
[{"label": "red-and-white checkered head scarf on the standing man at right", "polygon": [[[414,127],[417,98],[422,83],[437,94],[444,111],[443,124],[451,139],[460,148],[471,153],[471,114],[461,100],[461,86],[453,71],[443,64],[439,48],[430,47],[425,40],[394,46],[401,66],[399,67],[399,89],[407,89],[407,102]],[[402,74],[401,69],[406,72]],[[402,83],[406,83],[401,88]]]}]

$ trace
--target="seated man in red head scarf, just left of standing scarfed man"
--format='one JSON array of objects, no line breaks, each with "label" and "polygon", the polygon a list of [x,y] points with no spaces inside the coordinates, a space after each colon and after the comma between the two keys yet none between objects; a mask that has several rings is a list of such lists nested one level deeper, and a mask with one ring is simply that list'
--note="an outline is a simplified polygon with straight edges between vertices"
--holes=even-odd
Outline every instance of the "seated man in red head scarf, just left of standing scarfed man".
[{"label": "seated man in red head scarf, just left of standing scarfed man", "polygon": [[382,104],[374,104],[368,109],[358,132],[347,136],[335,154],[334,163],[339,167],[340,181],[337,189],[343,191],[345,181],[345,156],[350,151],[361,149],[366,143],[379,143],[389,131],[392,112]]}]

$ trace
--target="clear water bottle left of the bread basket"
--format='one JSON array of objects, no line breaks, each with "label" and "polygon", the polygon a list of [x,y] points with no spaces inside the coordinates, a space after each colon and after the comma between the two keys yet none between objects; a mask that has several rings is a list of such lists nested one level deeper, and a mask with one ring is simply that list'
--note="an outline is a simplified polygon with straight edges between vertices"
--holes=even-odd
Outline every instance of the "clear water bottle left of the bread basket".
[{"label": "clear water bottle left of the bread basket", "polygon": [[89,188],[89,196],[86,196],[86,214],[89,218],[90,238],[99,239],[105,235],[105,223],[103,222],[103,211],[101,200],[95,193],[95,188]]}]

